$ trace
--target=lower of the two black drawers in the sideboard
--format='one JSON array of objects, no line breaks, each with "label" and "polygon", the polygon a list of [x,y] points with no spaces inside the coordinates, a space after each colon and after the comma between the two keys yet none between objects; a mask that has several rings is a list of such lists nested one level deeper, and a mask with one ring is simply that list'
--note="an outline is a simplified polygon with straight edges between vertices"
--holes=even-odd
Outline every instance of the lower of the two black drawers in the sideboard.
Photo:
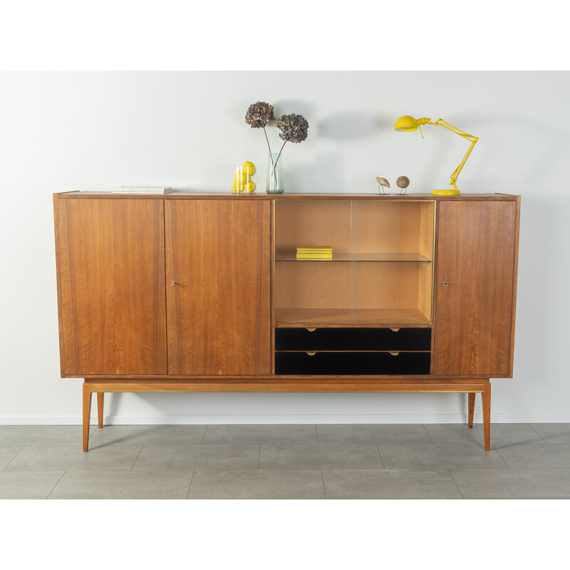
[{"label": "lower of the two black drawers in the sideboard", "polygon": [[276,374],[361,375],[429,374],[430,353],[306,352],[275,353]]}]

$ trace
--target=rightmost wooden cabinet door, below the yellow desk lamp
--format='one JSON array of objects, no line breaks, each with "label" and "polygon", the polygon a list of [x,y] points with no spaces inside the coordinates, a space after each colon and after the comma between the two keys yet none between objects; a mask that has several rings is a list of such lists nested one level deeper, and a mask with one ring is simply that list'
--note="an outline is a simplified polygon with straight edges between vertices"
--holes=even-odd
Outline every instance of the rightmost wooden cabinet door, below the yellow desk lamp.
[{"label": "rightmost wooden cabinet door, below the yellow desk lamp", "polygon": [[511,201],[439,203],[434,374],[512,375],[518,212]]}]

